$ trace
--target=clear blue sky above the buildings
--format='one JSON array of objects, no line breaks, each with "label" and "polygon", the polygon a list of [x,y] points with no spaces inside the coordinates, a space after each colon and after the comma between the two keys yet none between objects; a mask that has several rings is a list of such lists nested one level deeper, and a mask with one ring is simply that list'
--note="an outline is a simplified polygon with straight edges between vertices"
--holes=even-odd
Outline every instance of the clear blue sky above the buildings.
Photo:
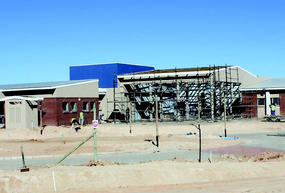
[{"label": "clear blue sky above the buildings", "polygon": [[69,80],[70,65],[108,62],[285,77],[284,0],[0,1],[0,16],[0,84]]}]

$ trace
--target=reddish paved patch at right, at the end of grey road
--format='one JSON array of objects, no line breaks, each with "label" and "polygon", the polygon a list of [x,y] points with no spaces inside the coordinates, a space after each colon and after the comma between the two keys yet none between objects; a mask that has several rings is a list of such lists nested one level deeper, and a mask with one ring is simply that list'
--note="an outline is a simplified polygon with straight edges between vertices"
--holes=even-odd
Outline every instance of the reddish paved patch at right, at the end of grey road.
[{"label": "reddish paved patch at right, at the end of grey road", "polygon": [[261,148],[261,147],[251,147],[245,145],[232,145],[227,147],[201,149],[204,152],[212,152],[217,154],[233,154],[233,155],[255,155],[262,153],[264,151],[272,152],[285,152],[279,149]]}]

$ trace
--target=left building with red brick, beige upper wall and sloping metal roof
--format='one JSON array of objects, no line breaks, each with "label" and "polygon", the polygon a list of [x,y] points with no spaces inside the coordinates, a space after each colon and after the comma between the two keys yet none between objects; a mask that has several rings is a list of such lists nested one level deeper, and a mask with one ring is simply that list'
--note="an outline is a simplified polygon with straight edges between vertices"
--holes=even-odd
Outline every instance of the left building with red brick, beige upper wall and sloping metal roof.
[{"label": "left building with red brick, beige upper wall and sloping metal roof", "polygon": [[[7,116],[8,111],[5,109],[9,103],[9,100],[6,100],[8,97],[12,99],[40,97],[43,100],[37,100],[36,105],[30,106],[37,111],[38,119],[35,125],[40,122],[40,110],[42,110],[42,125],[68,125],[71,118],[79,119],[81,110],[84,110],[85,123],[90,124],[93,120],[94,108],[96,109],[96,118],[99,116],[98,82],[98,79],[91,79],[0,85],[0,98],[2,99],[0,109],[6,117],[9,117]],[[18,115],[15,114],[15,116]],[[6,119],[6,126],[9,127],[9,123],[15,120],[16,117],[11,120]]]}]

